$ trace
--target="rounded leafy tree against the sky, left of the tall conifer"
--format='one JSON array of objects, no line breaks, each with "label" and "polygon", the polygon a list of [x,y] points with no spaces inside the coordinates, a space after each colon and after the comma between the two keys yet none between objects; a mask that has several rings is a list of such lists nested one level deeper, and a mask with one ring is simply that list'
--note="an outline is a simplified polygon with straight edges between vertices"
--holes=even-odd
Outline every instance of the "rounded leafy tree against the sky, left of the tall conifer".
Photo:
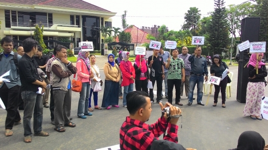
[{"label": "rounded leafy tree against the sky, left of the tall conifer", "polygon": [[195,36],[198,34],[198,22],[201,18],[201,14],[199,13],[197,7],[190,7],[190,10],[185,13],[185,24],[183,25],[183,30],[190,30],[192,34]]}]

